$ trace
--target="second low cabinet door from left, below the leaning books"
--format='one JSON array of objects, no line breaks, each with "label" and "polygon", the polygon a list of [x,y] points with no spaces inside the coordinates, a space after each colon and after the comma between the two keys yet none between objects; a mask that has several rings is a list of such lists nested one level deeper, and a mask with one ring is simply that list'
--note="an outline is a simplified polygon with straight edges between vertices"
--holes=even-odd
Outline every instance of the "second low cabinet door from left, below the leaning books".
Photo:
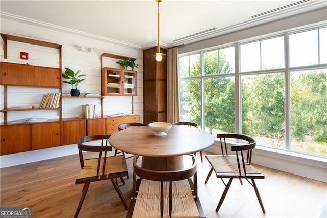
[{"label": "second low cabinet door from left, below the leaning books", "polygon": [[32,124],[32,150],[60,145],[60,122]]}]

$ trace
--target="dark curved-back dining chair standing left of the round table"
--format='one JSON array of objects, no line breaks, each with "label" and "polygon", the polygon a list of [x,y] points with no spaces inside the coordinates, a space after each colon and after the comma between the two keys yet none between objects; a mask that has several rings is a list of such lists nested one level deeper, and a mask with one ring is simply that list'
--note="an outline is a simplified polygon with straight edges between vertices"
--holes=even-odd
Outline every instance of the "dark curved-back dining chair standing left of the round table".
[{"label": "dark curved-back dining chair standing left of the round table", "polygon": [[[78,217],[90,183],[101,180],[111,180],[125,209],[128,209],[123,194],[114,180],[120,178],[122,183],[125,184],[122,177],[128,176],[126,160],[123,155],[108,156],[108,152],[112,150],[108,141],[110,136],[90,135],[84,136],[77,141],[81,170],[75,184],[84,184],[84,186],[82,189],[83,194],[74,217]],[[85,159],[83,151],[94,152],[98,157]]]}]

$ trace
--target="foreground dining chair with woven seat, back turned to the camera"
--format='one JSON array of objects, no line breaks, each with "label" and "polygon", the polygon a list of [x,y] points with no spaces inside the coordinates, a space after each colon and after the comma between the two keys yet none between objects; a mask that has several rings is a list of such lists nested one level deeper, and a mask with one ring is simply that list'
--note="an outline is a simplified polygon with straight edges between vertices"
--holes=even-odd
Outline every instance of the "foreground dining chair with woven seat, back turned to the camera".
[{"label": "foreground dining chair with woven seat, back turned to the camera", "polygon": [[195,155],[191,156],[192,163],[171,171],[143,168],[135,156],[133,196],[126,217],[172,217],[172,212],[178,217],[205,217],[197,194],[197,161]]}]

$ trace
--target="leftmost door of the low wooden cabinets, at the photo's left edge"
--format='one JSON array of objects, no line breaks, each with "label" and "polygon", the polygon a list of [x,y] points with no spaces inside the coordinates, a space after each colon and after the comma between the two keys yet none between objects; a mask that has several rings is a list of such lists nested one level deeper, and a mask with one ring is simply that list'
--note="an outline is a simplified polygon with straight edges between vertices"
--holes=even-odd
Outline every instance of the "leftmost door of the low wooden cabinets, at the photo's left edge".
[{"label": "leftmost door of the low wooden cabinets, at the photo's left edge", "polygon": [[31,125],[0,126],[0,155],[31,150]]}]

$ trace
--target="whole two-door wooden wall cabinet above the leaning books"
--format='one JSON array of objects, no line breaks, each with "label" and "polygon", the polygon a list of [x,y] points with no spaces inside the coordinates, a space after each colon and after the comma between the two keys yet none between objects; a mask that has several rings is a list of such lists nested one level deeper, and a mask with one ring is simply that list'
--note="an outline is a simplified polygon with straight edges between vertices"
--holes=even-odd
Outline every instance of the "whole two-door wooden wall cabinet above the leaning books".
[{"label": "whole two-door wooden wall cabinet above the leaning books", "polygon": [[61,70],[1,62],[1,85],[61,87]]}]

